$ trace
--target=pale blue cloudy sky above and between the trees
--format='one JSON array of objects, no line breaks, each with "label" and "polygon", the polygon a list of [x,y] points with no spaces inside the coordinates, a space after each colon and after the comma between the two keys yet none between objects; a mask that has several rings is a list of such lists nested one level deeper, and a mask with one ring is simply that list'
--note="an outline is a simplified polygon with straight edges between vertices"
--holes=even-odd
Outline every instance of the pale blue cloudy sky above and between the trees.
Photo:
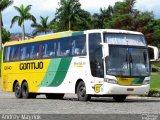
[{"label": "pale blue cloudy sky above and between the trees", "polygon": [[[7,8],[2,12],[4,27],[11,33],[21,32],[22,29],[17,23],[10,28],[11,20],[14,16],[19,15],[18,12],[13,8],[13,6],[24,6],[32,5],[30,13],[32,13],[37,22],[40,21],[40,16],[49,16],[49,19],[53,19],[56,9],[59,8],[60,0],[14,0],[12,6]],[[123,0],[79,0],[81,3],[81,8],[89,11],[90,13],[99,13],[100,8],[107,8],[109,5],[113,6],[117,1]],[[140,11],[153,11],[155,18],[160,18],[160,2],[159,0],[137,0],[135,8]],[[26,32],[31,33],[33,28],[30,27],[31,22],[26,21],[25,27]]]}]

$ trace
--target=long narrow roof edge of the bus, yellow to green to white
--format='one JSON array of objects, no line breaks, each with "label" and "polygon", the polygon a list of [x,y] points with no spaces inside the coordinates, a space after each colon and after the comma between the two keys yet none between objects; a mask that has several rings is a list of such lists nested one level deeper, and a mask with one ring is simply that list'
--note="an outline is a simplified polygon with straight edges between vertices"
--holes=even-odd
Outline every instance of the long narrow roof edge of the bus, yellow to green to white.
[{"label": "long narrow roof edge of the bus, yellow to green to white", "polygon": [[63,38],[63,37],[82,35],[82,34],[87,34],[87,33],[97,33],[97,32],[98,33],[104,33],[105,32],[105,33],[125,33],[125,34],[142,35],[142,33],[140,33],[140,32],[118,30],[118,29],[93,29],[93,30],[86,30],[86,31],[64,31],[64,32],[58,32],[58,33],[52,33],[52,34],[37,36],[37,37],[35,37],[33,39],[29,39],[29,40],[6,42],[4,44],[4,46],[30,43],[30,42],[49,40],[49,39],[55,39],[55,38]]}]

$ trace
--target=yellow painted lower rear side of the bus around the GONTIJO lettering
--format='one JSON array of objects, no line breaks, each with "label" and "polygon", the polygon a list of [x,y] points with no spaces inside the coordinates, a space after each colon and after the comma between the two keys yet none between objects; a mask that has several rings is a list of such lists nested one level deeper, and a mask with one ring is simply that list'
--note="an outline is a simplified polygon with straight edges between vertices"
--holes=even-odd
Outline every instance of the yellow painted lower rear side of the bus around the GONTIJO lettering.
[{"label": "yellow painted lower rear side of the bus around the GONTIJO lettering", "polygon": [[[39,61],[43,62],[43,69],[20,70],[19,67],[20,63],[28,63],[28,62],[37,63]],[[12,91],[13,83],[15,80],[17,80],[20,85],[22,85],[23,80],[26,80],[29,84],[29,92],[37,92],[39,89],[38,85],[44,79],[49,63],[50,63],[49,59],[3,63],[2,90]],[[5,70],[6,66],[11,66],[11,69]]]}]

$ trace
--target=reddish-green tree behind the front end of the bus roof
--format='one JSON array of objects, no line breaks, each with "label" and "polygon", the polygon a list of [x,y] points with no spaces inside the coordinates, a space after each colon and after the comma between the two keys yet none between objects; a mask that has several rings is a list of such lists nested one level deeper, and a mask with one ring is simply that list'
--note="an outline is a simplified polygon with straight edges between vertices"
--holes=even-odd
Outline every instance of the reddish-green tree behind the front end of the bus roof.
[{"label": "reddish-green tree behind the front end of the bus roof", "polygon": [[105,22],[105,27],[114,29],[134,30],[133,20],[137,14],[134,9],[136,0],[125,0],[116,2],[113,7],[113,14],[110,21]]}]

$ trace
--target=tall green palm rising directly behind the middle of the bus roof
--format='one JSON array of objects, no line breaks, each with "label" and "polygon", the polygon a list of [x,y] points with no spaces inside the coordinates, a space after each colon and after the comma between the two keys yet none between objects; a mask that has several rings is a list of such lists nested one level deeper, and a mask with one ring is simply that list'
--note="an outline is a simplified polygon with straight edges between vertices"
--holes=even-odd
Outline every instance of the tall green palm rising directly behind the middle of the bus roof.
[{"label": "tall green palm rising directly behind the middle of the bus roof", "polygon": [[58,31],[71,30],[79,19],[81,4],[79,0],[61,0],[55,14]]}]

